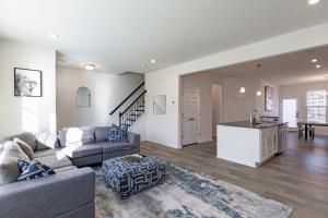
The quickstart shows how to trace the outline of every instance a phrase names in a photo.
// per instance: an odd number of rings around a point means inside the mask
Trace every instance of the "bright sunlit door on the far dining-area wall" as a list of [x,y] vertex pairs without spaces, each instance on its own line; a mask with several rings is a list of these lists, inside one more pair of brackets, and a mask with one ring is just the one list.
[[298,109],[296,98],[282,99],[282,121],[288,122],[290,129],[297,128]]

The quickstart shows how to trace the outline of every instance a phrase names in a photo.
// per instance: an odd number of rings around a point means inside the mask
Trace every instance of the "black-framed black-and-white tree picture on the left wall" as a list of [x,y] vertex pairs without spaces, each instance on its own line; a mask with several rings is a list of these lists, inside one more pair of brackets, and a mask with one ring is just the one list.
[[23,68],[14,68],[14,96],[42,97],[43,72]]

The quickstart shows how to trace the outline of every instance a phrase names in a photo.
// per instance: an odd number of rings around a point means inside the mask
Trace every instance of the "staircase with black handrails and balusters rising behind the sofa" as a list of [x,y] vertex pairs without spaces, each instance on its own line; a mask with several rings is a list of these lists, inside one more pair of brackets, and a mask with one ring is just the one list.
[[[127,100],[129,100],[134,93],[137,93],[144,83],[139,85],[127,98],[125,98],[109,114],[114,114]],[[147,90],[143,90],[122,112],[119,111],[119,126],[130,130],[133,124],[140,119],[145,111],[145,97]]]

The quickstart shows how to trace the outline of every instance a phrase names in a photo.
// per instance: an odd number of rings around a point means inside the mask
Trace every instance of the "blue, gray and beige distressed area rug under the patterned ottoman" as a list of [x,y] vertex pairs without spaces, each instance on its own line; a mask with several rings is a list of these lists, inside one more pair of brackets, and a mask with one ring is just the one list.
[[164,184],[120,201],[96,172],[96,218],[288,218],[292,208],[166,162]]

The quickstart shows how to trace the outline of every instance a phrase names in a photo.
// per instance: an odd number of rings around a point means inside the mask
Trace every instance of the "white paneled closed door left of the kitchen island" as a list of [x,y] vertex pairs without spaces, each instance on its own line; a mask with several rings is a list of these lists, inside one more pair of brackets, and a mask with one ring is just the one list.
[[181,144],[200,141],[200,89],[183,89]]

